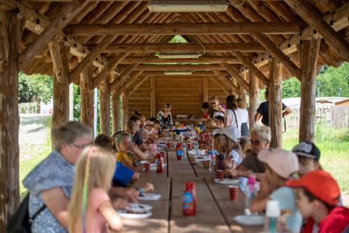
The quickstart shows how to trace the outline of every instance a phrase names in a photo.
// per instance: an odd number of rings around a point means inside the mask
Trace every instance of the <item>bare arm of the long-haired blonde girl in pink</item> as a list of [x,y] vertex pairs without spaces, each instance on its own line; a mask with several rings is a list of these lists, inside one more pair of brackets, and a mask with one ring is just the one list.
[[104,202],[99,206],[98,211],[102,214],[103,218],[110,227],[110,230],[121,231],[122,230],[122,220],[115,211],[111,202]]

